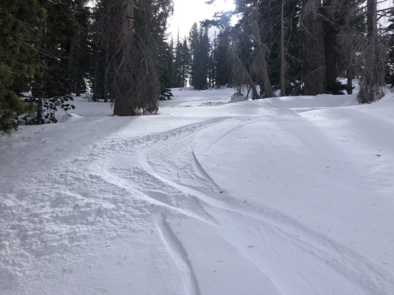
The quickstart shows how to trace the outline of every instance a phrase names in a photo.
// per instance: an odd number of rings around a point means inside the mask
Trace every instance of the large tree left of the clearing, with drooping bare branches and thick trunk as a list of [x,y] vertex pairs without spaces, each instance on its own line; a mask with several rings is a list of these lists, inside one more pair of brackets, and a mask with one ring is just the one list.
[[97,7],[93,25],[95,99],[105,100],[108,89],[115,115],[157,112],[161,89],[172,80],[172,74],[167,73],[171,70],[166,69],[164,75],[160,65],[165,60],[168,67],[172,66],[172,53],[164,45],[172,1],[100,0]]

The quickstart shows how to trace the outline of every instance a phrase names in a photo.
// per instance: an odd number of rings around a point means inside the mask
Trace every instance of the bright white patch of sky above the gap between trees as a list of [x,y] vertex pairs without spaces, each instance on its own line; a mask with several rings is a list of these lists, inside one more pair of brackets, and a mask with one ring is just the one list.
[[207,0],[173,0],[174,15],[169,19],[168,31],[174,38],[178,34],[183,38],[189,35],[189,30],[193,24],[197,24],[207,18],[210,18],[217,11],[227,11],[234,8],[233,0],[216,0],[214,4],[205,4]]

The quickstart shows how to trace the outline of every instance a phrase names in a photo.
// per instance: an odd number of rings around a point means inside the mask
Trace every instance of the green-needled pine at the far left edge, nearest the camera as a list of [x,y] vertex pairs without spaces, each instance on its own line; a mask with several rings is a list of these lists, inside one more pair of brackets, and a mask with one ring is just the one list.
[[17,128],[16,117],[33,110],[24,103],[41,60],[37,41],[46,11],[37,0],[5,1],[0,9],[0,131]]

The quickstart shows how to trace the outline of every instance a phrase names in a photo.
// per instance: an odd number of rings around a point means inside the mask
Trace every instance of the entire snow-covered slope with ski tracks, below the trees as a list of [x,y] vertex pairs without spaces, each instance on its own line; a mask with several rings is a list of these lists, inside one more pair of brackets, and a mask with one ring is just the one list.
[[392,93],[173,92],[0,137],[1,295],[394,294]]

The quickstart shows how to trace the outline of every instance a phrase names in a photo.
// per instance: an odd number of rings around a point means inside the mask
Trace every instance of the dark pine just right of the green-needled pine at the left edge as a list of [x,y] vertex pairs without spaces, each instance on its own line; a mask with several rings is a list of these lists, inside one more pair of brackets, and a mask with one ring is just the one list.
[[[39,47],[42,63],[35,73],[32,98],[37,104],[34,116],[24,117],[25,123],[56,122],[56,111],[73,108],[71,92],[86,89],[86,58],[90,46],[88,0],[41,0],[47,11]],[[79,94],[78,93],[78,94]]]

